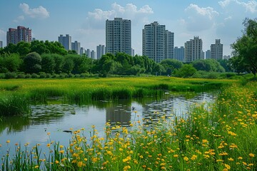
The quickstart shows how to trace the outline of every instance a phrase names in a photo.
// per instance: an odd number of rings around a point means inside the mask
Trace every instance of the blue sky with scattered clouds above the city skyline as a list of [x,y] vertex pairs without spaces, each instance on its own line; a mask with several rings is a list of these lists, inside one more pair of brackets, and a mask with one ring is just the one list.
[[203,40],[203,51],[223,43],[223,55],[230,55],[230,45],[242,35],[243,19],[257,16],[253,0],[1,0],[0,41],[6,45],[8,28],[26,26],[38,40],[57,41],[69,34],[72,41],[96,50],[105,44],[105,21],[114,17],[130,19],[132,48],[141,55],[142,29],[158,21],[175,33],[175,46],[183,46],[193,36]]

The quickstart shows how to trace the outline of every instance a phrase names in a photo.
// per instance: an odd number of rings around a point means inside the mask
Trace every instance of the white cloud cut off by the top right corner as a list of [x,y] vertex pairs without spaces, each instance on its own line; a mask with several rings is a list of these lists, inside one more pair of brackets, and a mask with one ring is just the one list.
[[239,1],[239,0],[218,1],[218,4],[223,8],[229,6],[232,3],[243,6],[243,8],[246,9],[246,12],[248,12],[248,11],[250,11],[251,13],[257,12],[257,2],[256,1],[252,1],[252,0],[248,1],[248,2],[243,2],[243,1]]

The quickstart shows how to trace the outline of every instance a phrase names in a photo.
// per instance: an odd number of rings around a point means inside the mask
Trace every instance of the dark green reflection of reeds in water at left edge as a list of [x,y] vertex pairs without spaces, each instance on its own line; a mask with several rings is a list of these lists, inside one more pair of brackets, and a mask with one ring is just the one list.
[[2,118],[0,133],[7,129],[7,133],[26,130],[29,128],[29,118],[22,116],[11,116]]

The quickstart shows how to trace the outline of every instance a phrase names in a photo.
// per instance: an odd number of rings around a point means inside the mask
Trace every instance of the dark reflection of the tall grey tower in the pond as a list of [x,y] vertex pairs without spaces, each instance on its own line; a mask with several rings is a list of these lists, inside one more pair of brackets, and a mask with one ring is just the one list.
[[130,100],[122,100],[122,102],[119,102],[122,105],[113,105],[106,108],[106,122],[111,123],[111,125],[129,125],[131,122],[131,102]]

